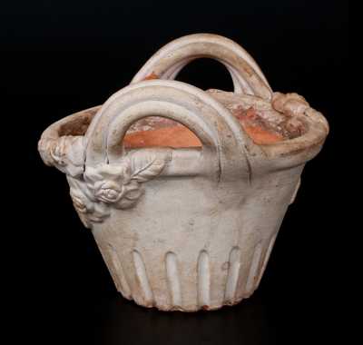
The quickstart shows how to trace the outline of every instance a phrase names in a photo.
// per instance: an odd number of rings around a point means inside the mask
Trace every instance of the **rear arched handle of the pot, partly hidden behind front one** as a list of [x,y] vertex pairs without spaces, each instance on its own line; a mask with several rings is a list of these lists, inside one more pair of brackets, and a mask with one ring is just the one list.
[[272,91],[259,65],[239,44],[218,34],[191,34],[164,45],[142,66],[132,84],[145,79],[174,79],[186,64],[201,57],[210,57],[226,66],[236,94],[256,95],[270,101]]

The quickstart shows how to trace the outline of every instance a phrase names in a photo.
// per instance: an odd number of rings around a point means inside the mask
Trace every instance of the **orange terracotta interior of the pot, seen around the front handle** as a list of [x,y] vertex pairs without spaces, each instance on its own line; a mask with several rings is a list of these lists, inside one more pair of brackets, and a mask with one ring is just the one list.
[[[306,133],[306,128],[296,117],[287,116],[272,109],[268,102],[261,99],[254,103],[255,97],[208,90],[207,93],[223,104],[240,122],[244,132],[256,144],[279,143]],[[252,102],[250,102],[250,100]],[[100,107],[80,113],[79,116],[62,124],[59,135],[83,135],[86,133],[93,116]],[[200,140],[181,123],[149,116],[133,123],[123,138],[126,148],[167,146],[173,148],[199,147]]]

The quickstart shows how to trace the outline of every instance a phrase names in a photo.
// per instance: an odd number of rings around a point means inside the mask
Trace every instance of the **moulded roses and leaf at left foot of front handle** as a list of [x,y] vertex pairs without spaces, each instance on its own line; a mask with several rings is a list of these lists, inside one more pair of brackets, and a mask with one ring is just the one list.
[[86,165],[83,172],[83,164],[78,164],[81,157],[73,154],[68,143],[70,138],[49,147],[52,164],[67,174],[74,208],[87,228],[92,228],[94,222],[103,222],[110,215],[110,206],[131,208],[142,196],[142,182],[159,175],[171,159],[167,151],[132,153],[117,163]]

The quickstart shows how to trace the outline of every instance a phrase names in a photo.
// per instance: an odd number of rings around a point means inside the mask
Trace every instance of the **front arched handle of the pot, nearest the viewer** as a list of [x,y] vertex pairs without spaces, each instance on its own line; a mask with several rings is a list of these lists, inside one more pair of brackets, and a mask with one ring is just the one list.
[[219,180],[250,176],[248,153],[259,148],[231,113],[201,89],[154,80],[126,86],[103,105],[86,133],[86,164],[116,163],[125,155],[123,137],[132,123],[162,116],[188,127],[202,143],[202,163]]

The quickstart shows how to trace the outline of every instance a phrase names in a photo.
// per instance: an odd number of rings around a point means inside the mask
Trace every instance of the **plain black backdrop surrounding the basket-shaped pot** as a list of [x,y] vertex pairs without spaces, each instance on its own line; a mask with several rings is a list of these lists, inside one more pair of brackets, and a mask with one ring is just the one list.
[[[38,344],[270,345],[325,343],[335,335],[334,320],[343,317],[337,312],[344,267],[336,201],[345,188],[337,183],[337,160],[349,96],[348,1],[18,1],[2,7],[3,155],[10,153],[11,162],[3,169],[10,191],[3,216],[14,236],[3,247],[11,252],[12,278],[5,284],[16,296],[9,297],[7,314],[15,325],[11,343],[25,337]],[[36,143],[54,121],[103,104],[163,44],[200,32],[241,44],[273,90],[304,95],[326,115],[331,132],[307,164],[260,289],[233,308],[164,313],[115,291],[91,232],[73,210],[64,175],[44,166]],[[210,60],[193,62],[178,79],[231,89],[227,71]]]

